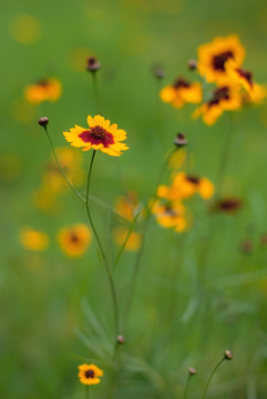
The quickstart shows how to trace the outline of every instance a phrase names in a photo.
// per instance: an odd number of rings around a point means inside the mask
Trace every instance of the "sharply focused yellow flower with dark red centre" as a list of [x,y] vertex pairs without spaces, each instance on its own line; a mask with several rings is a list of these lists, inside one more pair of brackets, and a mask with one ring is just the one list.
[[117,129],[116,124],[112,124],[103,116],[88,116],[89,129],[75,125],[70,132],[63,132],[65,140],[75,147],[82,147],[82,151],[91,149],[100,150],[112,156],[120,156],[122,151],[129,150],[125,143],[121,143],[126,139],[126,132]]

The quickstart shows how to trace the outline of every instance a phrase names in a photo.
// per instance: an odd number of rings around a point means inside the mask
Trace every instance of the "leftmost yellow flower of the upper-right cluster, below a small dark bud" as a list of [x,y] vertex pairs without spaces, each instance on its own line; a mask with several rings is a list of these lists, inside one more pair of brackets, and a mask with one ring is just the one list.
[[198,104],[202,101],[202,85],[178,78],[173,85],[163,88],[160,96],[163,102],[171,103],[175,108],[182,108],[186,102]]

